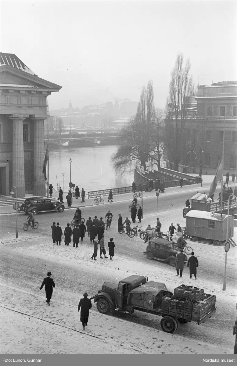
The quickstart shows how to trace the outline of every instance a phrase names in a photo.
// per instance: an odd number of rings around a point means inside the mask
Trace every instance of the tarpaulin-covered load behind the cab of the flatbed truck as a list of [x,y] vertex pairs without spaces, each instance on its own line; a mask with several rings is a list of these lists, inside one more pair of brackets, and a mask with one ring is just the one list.
[[127,304],[153,310],[161,305],[161,299],[165,295],[173,294],[164,283],[149,281],[129,292]]

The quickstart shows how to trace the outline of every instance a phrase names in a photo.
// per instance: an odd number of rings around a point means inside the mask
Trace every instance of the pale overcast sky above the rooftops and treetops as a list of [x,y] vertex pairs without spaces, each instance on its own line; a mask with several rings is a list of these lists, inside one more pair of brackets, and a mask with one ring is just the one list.
[[237,80],[237,1],[1,1],[1,52],[61,85],[50,109],[138,101],[165,106],[178,51],[198,84]]

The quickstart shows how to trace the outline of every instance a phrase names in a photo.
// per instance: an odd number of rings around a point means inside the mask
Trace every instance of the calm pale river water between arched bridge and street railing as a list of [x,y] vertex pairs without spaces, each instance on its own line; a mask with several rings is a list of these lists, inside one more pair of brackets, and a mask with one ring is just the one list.
[[[57,182],[64,192],[69,189],[70,163],[71,181],[80,189],[94,191],[108,188],[131,186],[134,180],[134,171],[127,172],[123,177],[116,176],[110,164],[110,157],[117,146],[94,147],[63,147],[60,150],[49,151],[49,183],[57,190]],[[64,179],[63,175],[64,173]],[[56,180],[57,176],[57,180]]]

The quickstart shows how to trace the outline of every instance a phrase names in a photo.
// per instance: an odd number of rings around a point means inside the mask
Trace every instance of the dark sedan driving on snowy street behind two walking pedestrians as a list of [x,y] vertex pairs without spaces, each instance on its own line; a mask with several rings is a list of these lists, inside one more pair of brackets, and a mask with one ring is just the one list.
[[[172,242],[165,239],[151,239],[147,245],[147,249],[143,252],[148,259],[157,259],[158,261],[168,262],[171,266],[175,266],[174,262],[178,250],[173,249]],[[188,258],[186,257],[185,263]]]

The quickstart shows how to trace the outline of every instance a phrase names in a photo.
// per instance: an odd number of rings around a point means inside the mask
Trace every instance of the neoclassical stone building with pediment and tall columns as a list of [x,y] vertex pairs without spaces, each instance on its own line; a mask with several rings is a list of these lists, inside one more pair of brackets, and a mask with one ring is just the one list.
[[0,194],[45,195],[47,96],[61,86],[41,79],[13,53],[0,53]]

